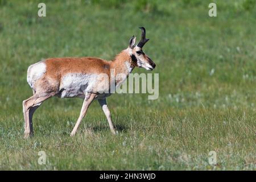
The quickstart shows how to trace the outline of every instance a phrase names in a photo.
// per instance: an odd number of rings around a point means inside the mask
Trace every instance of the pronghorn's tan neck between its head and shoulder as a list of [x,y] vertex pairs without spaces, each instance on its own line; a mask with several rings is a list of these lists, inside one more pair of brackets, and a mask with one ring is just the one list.
[[114,60],[110,68],[114,69],[115,76],[117,74],[125,74],[126,76],[133,71],[135,67],[134,61],[131,59],[129,48],[121,51]]

